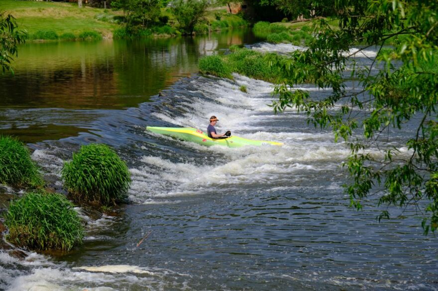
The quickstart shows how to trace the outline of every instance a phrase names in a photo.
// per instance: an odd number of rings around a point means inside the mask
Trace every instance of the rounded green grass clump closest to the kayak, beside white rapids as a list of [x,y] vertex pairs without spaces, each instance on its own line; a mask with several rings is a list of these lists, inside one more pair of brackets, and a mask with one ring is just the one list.
[[109,146],[98,144],[82,146],[61,174],[74,199],[104,205],[123,200],[131,182],[126,163]]

